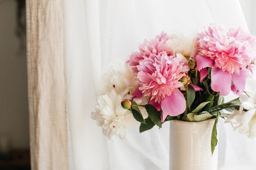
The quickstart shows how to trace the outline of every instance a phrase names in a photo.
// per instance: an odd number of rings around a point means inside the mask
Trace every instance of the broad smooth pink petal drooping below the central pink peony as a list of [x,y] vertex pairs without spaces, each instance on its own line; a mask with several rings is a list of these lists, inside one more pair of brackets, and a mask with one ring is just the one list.
[[182,114],[186,109],[186,100],[180,92],[179,89],[175,89],[171,96],[166,96],[161,100],[161,108],[162,108],[162,122],[170,116],[177,116]]

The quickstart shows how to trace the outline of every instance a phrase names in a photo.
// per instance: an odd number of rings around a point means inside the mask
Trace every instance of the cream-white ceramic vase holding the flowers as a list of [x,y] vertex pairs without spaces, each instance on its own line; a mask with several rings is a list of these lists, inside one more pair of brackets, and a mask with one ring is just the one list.
[[214,121],[170,121],[170,170],[217,170],[218,145],[211,155]]

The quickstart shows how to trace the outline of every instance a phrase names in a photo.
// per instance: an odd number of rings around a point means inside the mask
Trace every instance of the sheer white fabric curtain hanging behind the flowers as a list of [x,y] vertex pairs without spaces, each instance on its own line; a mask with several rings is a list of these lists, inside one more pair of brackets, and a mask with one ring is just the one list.
[[[211,22],[247,29],[238,0],[65,0],[70,170],[168,170],[168,123],[141,134],[134,127],[127,140],[109,141],[90,118],[100,72],[144,38]],[[219,127],[219,170],[255,170],[256,141],[230,124]]]

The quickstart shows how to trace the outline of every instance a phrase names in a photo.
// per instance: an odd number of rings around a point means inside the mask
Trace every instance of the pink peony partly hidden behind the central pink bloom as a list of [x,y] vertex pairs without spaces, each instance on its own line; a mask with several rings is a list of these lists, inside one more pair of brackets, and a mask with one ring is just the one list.
[[167,33],[162,32],[157,35],[155,39],[148,41],[145,39],[144,43],[139,45],[139,52],[132,52],[127,63],[132,67],[132,70],[137,73],[137,65],[139,62],[151,55],[158,55],[166,52],[168,56],[172,54],[172,49],[166,44],[169,39]]

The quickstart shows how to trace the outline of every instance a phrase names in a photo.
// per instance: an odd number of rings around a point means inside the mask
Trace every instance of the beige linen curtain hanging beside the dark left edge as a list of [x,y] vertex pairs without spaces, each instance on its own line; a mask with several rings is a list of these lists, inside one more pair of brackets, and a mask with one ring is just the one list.
[[32,170],[67,170],[63,0],[27,0]]

